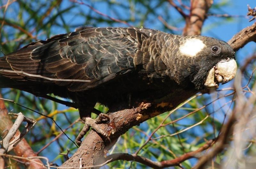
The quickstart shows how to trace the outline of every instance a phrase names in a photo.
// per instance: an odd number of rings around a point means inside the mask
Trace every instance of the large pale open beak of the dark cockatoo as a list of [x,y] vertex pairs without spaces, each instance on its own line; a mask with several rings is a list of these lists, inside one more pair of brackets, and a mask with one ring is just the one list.
[[205,88],[218,88],[219,83],[225,84],[231,81],[235,77],[236,71],[237,64],[235,59],[221,60],[209,71],[204,83]]

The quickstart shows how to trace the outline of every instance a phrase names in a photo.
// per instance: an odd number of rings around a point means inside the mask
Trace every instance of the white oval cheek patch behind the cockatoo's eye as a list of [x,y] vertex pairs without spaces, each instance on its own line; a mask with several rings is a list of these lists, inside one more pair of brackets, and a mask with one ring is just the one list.
[[180,46],[179,50],[181,54],[186,56],[194,57],[196,54],[205,47],[202,40],[199,39],[188,39],[186,42]]

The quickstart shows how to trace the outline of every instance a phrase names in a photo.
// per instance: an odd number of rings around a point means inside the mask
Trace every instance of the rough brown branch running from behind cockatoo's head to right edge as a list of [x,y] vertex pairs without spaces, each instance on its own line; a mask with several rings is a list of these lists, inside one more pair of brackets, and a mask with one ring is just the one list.
[[252,41],[256,42],[256,23],[238,32],[228,41],[228,44],[234,51],[238,51],[240,48],[244,47],[244,45]]

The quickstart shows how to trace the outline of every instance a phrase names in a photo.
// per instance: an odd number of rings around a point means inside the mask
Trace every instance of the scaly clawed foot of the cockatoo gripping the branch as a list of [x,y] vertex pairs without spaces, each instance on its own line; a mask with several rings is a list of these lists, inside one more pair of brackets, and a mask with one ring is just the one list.
[[[76,143],[78,145],[81,145],[82,141],[81,139],[84,137],[84,135],[89,131],[90,127],[92,128],[92,130],[96,131],[98,134],[100,134],[101,136],[103,136],[105,139],[107,139],[109,142],[109,135],[110,133],[115,132],[115,125],[113,125],[113,122],[109,122],[108,123],[108,128],[107,128],[107,132],[105,132],[104,130],[102,130],[100,128],[99,125],[102,123],[103,121],[107,120],[110,121],[110,118],[108,115],[104,114],[104,113],[100,113],[99,116],[94,120],[91,117],[81,117],[82,122],[84,123],[84,127],[81,130],[81,132],[78,134],[78,136],[76,137]],[[114,126],[114,127],[113,127]],[[109,132],[110,131],[110,132]]]

